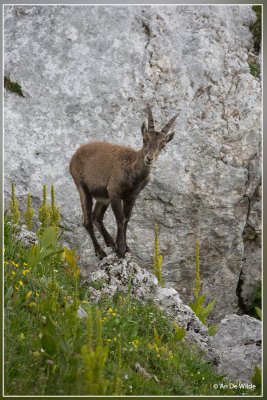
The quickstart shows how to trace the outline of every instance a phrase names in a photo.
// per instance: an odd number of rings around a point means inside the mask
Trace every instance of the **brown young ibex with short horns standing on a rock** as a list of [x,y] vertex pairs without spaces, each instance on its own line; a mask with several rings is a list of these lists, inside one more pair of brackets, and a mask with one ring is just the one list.
[[[159,153],[174,137],[169,130],[177,118],[176,114],[162,129],[155,131],[150,106],[148,127],[143,122],[141,131],[143,147],[136,151],[131,147],[106,142],[82,145],[70,162],[70,173],[79,191],[84,227],[91,236],[96,256],[101,260],[106,253],[100,247],[94,233],[95,225],[108,247],[112,247],[118,257],[130,251],[126,243],[126,230],[132,208],[142,189],[149,181],[149,174]],[[93,198],[96,204],[93,207]],[[104,214],[111,204],[117,222],[116,241],[107,232]]]

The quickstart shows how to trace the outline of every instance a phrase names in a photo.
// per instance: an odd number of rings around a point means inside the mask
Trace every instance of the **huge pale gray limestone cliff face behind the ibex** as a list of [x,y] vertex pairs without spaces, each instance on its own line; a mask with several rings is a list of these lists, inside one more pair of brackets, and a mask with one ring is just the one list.
[[[133,210],[132,255],[152,268],[156,222],[163,280],[188,303],[198,240],[202,289],[208,301],[217,297],[213,319],[238,312],[237,287],[249,306],[261,274],[261,82],[247,62],[251,6],[4,10],[5,76],[24,95],[5,91],[6,204],[11,183],[24,209],[27,192],[39,208],[43,184],[54,184],[66,244],[95,270],[71,156],[96,140],[140,148],[147,102],[156,128],[180,110]],[[115,234],[110,210],[105,221]]]

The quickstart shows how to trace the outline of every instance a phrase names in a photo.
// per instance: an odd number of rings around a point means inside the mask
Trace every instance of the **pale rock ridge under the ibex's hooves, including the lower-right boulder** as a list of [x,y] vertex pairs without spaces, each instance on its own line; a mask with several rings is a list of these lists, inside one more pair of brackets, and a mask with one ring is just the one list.
[[112,296],[117,290],[143,302],[153,300],[180,327],[184,326],[186,340],[205,352],[206,361],[212,362],[229,380],[250,383],[254,366],[261,368],[261,321],[248,315],[227,315],[215,335],[209,336],[207,327],[184,304],[179,293],[171,287],[162,288],[157,278],[132,261],[130,255],[122,260],[111,254],[99,263],[97,271],[83,270],[82,279],[95,301],[103,295]]

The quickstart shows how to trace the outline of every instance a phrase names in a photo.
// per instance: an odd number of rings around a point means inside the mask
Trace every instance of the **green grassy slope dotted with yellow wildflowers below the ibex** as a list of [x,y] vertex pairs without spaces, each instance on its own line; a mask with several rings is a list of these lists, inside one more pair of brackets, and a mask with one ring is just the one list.
[[[215,389],[223,377],[186,336],[176,340],[173,322],[152,302],[119,292],[91,302],[55,228],[28,249],[17,229],[5,217],[5,395],[259,394]],[[80,306],[92,324],[77,316]]]

